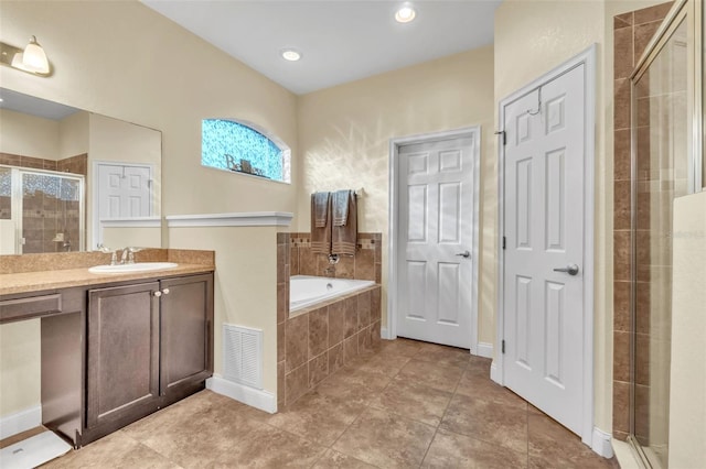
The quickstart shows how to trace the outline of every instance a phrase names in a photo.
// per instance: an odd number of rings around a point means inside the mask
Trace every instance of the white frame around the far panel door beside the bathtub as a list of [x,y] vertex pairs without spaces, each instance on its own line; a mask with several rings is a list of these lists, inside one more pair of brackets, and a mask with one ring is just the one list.
[[397,236],[399,232],[397,192],[399,190],[399,148],[416,143],[427,143],[440,140],[459,138],[471,138],[474,142],[473,154],[473,246],[471,247],[471,353],[478,355],[478,266],[479,266],[479,222],[480,222],[480,153],[481,153],[481,126],[471,126],[461,129],[447,130],[442,132],[422,133],[394,138],[389,140],[389,210],[388,210],[388,240],[387,240],[387,328],[382,330],[385,339],[397,338]]

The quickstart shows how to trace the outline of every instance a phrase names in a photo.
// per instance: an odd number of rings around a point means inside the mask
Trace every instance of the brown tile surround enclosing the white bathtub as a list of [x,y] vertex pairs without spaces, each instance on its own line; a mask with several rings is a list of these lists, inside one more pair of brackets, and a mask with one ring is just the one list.
[[378,284],[289,317],[289,276],[325,276],[325,255],[311,254],[310,234],[277,234],[277,406],[285,408],[327,375],[379,345],[382,233],[359,233],[355,257],[335,264],[338,279]]

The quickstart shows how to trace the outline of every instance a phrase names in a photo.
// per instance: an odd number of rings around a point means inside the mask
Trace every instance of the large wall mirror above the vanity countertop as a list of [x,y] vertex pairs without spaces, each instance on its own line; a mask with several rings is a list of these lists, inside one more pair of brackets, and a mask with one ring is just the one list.
[[0,98],[0,254],[161,246],[160,131]]

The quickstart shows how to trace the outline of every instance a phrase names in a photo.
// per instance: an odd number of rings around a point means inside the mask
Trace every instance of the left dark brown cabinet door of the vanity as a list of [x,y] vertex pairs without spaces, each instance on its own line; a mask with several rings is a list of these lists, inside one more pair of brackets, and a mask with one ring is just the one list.
[[157,406],[158,290],[150,282],[88,292],[88,428]]

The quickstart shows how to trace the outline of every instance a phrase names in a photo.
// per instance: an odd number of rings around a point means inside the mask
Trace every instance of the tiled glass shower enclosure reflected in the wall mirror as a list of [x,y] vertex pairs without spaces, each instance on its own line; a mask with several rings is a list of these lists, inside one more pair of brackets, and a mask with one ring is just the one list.
[[81,251],[84,176],[0,166],[0,254]]

